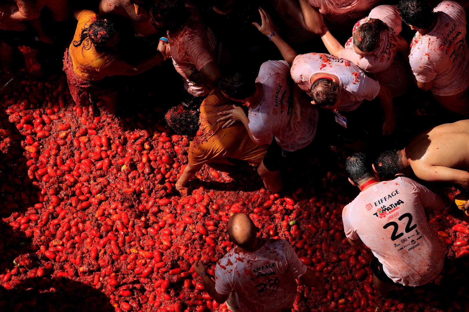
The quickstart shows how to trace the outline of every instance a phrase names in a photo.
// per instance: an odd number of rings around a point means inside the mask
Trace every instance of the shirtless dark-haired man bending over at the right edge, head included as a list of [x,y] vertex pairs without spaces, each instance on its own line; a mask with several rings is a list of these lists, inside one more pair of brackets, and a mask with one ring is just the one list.
[[469,120],[445,123],[416,136],[403,150],[381,154],[375,162],[383,180],[410,175],[469,189]]

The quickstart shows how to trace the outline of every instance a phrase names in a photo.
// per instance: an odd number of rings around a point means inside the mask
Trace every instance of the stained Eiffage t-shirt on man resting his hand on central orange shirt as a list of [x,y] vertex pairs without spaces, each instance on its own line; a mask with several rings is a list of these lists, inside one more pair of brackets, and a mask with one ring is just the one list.
[[318,124],[318,109],[302,103],[299,131],[290,127],[292,98],[290,66],[286,61],[267,61],[261,65],[256,82],[264,87],[264,98],[256,109],[249,108],[249,130],[258,144],[271,144],[272,138],[285,151],[293,152],[311,143]]

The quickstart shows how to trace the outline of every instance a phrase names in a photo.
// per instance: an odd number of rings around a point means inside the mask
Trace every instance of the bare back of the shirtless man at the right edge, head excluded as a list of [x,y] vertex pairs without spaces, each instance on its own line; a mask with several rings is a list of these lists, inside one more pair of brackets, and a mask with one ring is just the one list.
[[406,155],[415,175],[425,181],[458,183],[469,175],[469,120],[445,123],[414,138]]

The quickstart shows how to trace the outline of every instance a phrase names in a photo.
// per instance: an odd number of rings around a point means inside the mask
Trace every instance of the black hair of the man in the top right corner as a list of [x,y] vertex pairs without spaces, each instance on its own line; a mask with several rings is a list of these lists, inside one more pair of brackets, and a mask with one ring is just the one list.
[[401,0],[397,4],[402,21],[418,29],[427,29],[435,15],[427,0]]

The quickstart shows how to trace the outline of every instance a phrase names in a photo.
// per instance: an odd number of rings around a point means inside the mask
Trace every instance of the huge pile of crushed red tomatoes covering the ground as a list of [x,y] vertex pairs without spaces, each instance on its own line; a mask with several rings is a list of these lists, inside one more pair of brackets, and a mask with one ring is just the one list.
[[163,109],[118,118],[76,107],[63,75],[19,81],[0,108],[2,311],[227,311],[192,264],[214,274],[233,248],[227,220],[240,211],[262,237],[287,239],[326,283],[323,297],[298,286],[295,311],[469,309],[469,228],[451,206],[455,189],[440,188],[446,208],[428,215],[446,246],[443,271],[385,299],[372,285],[370,249],[350,247],[343,233],[341,211],[358,191],[343,153],[314,158],[285,197],[265,191],[252,169],[207,166],[180,196],[189,140],[166,127]]

